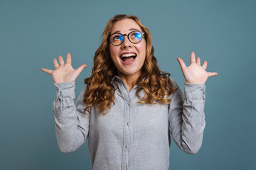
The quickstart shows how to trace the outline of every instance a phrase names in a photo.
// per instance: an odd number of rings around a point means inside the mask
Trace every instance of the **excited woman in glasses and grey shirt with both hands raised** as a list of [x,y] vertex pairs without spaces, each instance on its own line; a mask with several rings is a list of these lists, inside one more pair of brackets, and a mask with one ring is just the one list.
[[186,67],[185,98],[170,74],[161,72],[151,34],[136,16],[108,21],[95,52],[92,75],[75,101],[75,79],[82,69],[58,56],[55,70],[41,69],[57,87],[53,101],[55,131],[61,152],[73,152],[88,138],[92,169],[169,169],[171,136],[184,152],[196,154],[205,128],[206,72],[191,52]]

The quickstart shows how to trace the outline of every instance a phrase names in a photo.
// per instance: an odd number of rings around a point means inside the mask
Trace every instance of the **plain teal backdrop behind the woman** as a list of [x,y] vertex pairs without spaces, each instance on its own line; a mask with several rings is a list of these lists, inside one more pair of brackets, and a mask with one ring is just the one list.
[[138,16],[151,30],[160,69],[183,90],[177,57],[208,61],[206,129],[198,154],[171,141],[175,170],[256,169],[256,1],[7,1],[0,0],[0,169],[91,169],[87,141],[58,149],[52,103],[55,86],[41,68],[71,53],[78,97],[92,70],[107,21]]

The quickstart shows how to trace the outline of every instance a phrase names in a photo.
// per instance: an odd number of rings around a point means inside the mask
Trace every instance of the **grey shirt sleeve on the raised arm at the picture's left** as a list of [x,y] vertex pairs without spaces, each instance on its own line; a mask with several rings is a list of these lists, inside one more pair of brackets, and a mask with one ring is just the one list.
[[75,82],[54,85],[57,88],[53,113],[58,147],[61,152],[73,152],[85,142],[89,132],[89,113],[86,112],[86,116],[83,113],[83,94],[86,86],[74,103]]

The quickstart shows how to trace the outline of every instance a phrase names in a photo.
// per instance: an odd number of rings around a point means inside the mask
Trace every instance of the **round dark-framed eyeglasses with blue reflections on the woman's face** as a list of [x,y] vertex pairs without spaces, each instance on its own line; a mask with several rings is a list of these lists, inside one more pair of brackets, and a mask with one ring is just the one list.
[[108,37],[112,45],[121,45],[122,42],[124,42],[124,35],[127,35],[128,40],[134,44],[137,44],[142,41],[142,35],[144,33],[141,33],[139,31],[132,31],[129,34],[122,34],[122,33],[113,33]]

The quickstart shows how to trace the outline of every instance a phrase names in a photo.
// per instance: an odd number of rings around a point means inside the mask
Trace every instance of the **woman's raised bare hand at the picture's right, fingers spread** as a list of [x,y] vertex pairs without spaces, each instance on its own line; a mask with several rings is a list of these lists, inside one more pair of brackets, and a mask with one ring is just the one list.
[[217,72],[206,72],[207,62],[204,61],[201,66],[200,58],[195,57],[195,52],[191,52],[191,64],[188,67],[186,67],[186,64],[181,58],[177,58],[177,60],[188,84],[205,84],[208,77],[218,75]]

